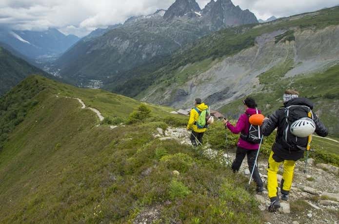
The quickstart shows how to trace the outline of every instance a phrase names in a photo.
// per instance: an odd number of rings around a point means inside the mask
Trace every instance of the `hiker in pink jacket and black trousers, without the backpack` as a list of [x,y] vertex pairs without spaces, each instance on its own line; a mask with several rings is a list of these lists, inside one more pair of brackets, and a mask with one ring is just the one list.
[[260,111],[257,109],[256,101],[253,98],[247,97],[242,102],[245,107],[245,112],[239,116],[236,127],[234,127],[227,119],[223,120],[225,128],[228,128],[231,132],[235,134],[241,132],[238,140],[236,158],[233,161],[231,168],[233,172],[239,171],[241,163],[245,158],[245,155],[247,155],[248,169],[250,170],[250,172],[252,172],[253,167],[255,167],[253,172],[253,179],[257,183],[257,192],[261,193],[262,191],[264,191],[264,188],[261,177],[259,175],[258,167],[255,166],[259,144],[254,144],[246,141],[250,128],[249,116],[252,114],[256,114],[257,112],[260,113]]

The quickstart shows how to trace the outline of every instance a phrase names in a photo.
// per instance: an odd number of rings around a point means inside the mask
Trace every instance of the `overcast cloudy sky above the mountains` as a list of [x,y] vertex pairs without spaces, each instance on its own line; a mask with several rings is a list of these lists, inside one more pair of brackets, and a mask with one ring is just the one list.
[[[167,9],[175,0],[0,0],[0,26],[20,30],[58,28],[80,37],[131,16]],[[210,0],[197,0],[203,8]],[[285,17],[339,4],[339,0],[233,0],[258,19]]]

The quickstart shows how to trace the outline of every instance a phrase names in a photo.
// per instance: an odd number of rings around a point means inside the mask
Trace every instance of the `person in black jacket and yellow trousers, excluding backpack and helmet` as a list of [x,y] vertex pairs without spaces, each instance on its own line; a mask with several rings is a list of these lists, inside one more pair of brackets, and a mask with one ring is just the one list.
[[[286,131],[287,127],[285,108],[299,105],[306,106],[312,110],[314,106],[310,100],[299,97],[299,93],[293,90],[285,91],[283,99],[284,107],[274,112],[269,116],[269,118],[265,118],[262,125],[262,132],[264,136],[270,135],[276,128],[278,128],[276,141],[272,146],[272,152],[268,159],[267,189],[268,196],[271,200],[271,204],[268,207],[269,211],[276,211],[280,207],[277,182],[279,166],[283,163],[283,175],[280,184],[281,200],[287,201],[289,191],[292,186],[295,162],[304,156],[304,150],[291,146],[284,138],[284,136],[286,136],[284,135],[284,131]],[[326,127],[315,114],[313,114],[313,121],[316,124],[315,132],[321,137],[327,136],[328,131]],[[306,146],[303,147],[306,148]]]

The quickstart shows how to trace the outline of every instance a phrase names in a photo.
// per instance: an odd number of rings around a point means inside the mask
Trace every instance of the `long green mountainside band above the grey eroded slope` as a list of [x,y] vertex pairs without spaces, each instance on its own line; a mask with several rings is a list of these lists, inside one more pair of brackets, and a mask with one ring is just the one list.
[[[199,70],[200,64],[207,61],[215,61],[225,56],[232,56],[241,50],[255,45],[256,37],[278,31],[281,29],[322,29],[331,25],[339,24],[339,7],[323,9],[315,13],[305,13],[289,18],[277,19],[274,22],[264,24],[250,24],[239,27],[220,30],[211,35],[198,39],[193,44],[185,46],[175,54],[158,61],[151,61],[139,68],[128,71],[130,79],[114,87],[116,84],[107,85],[105,88],[128,96],[141,98],[144,90],[154,88],[161,84],[166,87],[170,83],[188,80]],[[293,32],[287,32],[276,41],[292,40]],[[181,69],[189,66],[190,71],[183,76]],[[207,68],[205,68],[207,69]],[[114,80],[116,82],[116,80]],[[133,88],[132,88],[133,87]],[[133,91],[130,91],[133,89]]]

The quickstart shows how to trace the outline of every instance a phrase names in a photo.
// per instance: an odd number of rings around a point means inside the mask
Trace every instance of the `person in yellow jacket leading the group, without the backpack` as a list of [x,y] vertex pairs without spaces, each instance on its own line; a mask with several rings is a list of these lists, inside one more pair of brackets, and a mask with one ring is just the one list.
[[[190,113],[190,119],[188,120],[187,130],[192,129],[190,140],[193,146],[198,146],[198,144],[202,144],[202,136],[206,131],[206,128],[198,128],[197,121],[199,118],[200,112],[207,110],[208,106],[204,103],[201,103],[200,98],[196,98],[195,107],[192,108]],[[199,112],[198,112],[199,111]],[[197,140],[199,142],[197,142]]]

